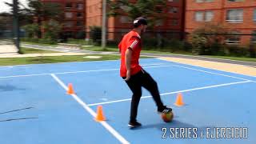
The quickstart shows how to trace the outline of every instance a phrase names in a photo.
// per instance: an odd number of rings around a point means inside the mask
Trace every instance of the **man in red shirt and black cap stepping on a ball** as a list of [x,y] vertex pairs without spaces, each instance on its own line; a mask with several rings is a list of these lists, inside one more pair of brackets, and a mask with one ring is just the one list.
[[142,87],[150,91],[154,98],[154,102],[158,106],[159,113],[169,113],[172,111],[163,105],[158,91],[158,84],[154,79],[142,69],[138,59],[142,50],[142,40],[140,34],[146,32],[147,22],[145,18],[136,18],[134,20],[134,29],[127,33],[118,48],[121,53],[120,76],[125,80],[126,84],[133,92],[130,105],[130,122],[128,126],[142,126],[137,122],[138,103],[142,97]]

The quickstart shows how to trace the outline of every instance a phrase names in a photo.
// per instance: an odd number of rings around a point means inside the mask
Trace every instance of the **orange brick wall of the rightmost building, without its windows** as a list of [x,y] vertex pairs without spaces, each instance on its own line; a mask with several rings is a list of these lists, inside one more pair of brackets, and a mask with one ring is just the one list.
[[[195,2],[195,0],[186,0],[186,21],[185,31],[192,32],[194,29],[202,26],[204,22],[195,22],[195,11],[214,11],[214,19],[212,22],[222,23],[230,30],[238,30],[241,34],[251,34],[252,30],[256,30],[256,22],[253,21],[254,9],[256,1],[244,0],[244,2],[227,2],[227,0],[214,0],[214,2]],[[242,23],[231,23],[226,21],[226,11],[229,9],[242,9]],[[241,44],[247,45],[250,42],[250,36],[242,36]]]

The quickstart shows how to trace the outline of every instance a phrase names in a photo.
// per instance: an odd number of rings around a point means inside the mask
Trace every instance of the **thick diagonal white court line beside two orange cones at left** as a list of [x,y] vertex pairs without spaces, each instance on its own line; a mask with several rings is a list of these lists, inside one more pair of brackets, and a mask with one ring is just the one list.
[[[55,75],[55,74],[50,74],[54,80],[56,82],[58,82],[58,84],[60,86],[62,86],[65,90],[68,90],[67,86]],[[96,117],[96,113],[94,112],[94,110],[92,110],[89,106],[86,105],[86,102],[83,102],[81,100],[81,98],[78,97],[78,95],[76,94],[71,94],[72,97],[85,109],[87,110],[94,118]],[[106,128],[106,130],[109,130],[111,134],[114,135],[115,138],[117,138],[119,140],[119,142],[122,143],[130,143],[128,142],[125,138],[122,137],[121,134],[119,134],[116,130],[114,130],[114,128],[112,126],[110,126],[107,122],[103,121],[100,122],[102,124],[102,126],[104,126]]]

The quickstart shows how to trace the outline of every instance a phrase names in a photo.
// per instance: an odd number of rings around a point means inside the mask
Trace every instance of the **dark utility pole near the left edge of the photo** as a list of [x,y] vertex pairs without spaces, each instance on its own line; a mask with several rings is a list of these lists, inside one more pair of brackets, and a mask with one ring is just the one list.
[[18,52],[20,51],[20,46],[19,46],[19,25],[18,25],[18,0],[13,0],[14,7],[13,7],[13,14],[14,14],[14,44],[18,49]]

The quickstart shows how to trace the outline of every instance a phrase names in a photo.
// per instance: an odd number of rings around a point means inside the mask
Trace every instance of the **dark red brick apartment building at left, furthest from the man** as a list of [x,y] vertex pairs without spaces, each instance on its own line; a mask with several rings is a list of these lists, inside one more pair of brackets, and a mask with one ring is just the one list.
[[42,0],[42,2],[56,2],[61,6],[64,37],[76,38],[85,30],[84,0]]

